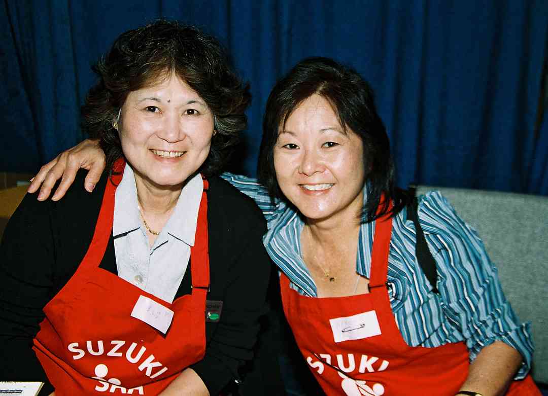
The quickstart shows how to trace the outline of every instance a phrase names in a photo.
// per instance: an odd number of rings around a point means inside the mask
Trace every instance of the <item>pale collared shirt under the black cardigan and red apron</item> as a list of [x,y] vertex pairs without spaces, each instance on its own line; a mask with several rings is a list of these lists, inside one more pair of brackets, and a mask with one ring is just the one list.
[[194,245],[202,192],[202,177],[197,174],[182,188],[169,220],[150,248],[139,214],[133,169],[125,165],[116,188],[112,225],[119,277],[173,302]]

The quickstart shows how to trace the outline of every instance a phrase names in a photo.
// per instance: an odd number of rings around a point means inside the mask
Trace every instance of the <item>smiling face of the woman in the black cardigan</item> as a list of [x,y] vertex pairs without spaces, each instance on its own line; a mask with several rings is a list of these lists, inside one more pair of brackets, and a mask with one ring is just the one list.
[[214,119],[206,102],[175,73],[131,91],[116,129],[138,191],[181,187],[204,163]]

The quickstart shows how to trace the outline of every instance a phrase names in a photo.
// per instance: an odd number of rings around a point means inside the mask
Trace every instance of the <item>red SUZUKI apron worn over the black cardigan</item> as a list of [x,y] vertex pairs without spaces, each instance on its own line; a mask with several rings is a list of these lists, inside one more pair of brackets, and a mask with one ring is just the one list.
[[[168,303],[99,268],[112,234],[115,191],[122,175],[112,179],[88,252],[44,307],[45,318],[34,340],[33,349],[57,396],[156,395],[206,351],[207,181],[190,255],[192,294]],[[174,311],[167,335],[130,316],[139,296]]]

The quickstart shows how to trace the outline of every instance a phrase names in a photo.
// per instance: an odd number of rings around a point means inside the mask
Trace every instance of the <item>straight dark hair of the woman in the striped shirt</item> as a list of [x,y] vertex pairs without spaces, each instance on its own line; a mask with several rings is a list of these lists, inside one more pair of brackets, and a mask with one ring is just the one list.
[[[373,91],[358,72],[329,58],[300,61],[272,89],[262,124],[257,169],[259,182],[269,190],[271,197],[284,198],[274,169],[274,147],[279,130],[289,116],[314,94],[323,96],[331,104],[345,132],[350,128],[363,141],[363,166],[368,189],[362,221],[373,221],[387,213],[397,214],[411,197],[395,187],[390,141],[376,112]],[[383,196],[387,199],[377,213]],[[391,210],[388,206],[390,200],[393,203]]]

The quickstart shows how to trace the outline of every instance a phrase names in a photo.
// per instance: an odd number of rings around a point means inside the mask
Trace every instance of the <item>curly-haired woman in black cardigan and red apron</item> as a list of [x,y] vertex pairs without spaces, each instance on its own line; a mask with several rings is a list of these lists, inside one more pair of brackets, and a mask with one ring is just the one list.
[[252,357],[271,267],[261,212],[216,176],[248,84],[215,38],[163,20],[123,33],[95,71],[82,118],[108,171],[92,194],[24,199],[10,221],[1,379],[218,394]]

